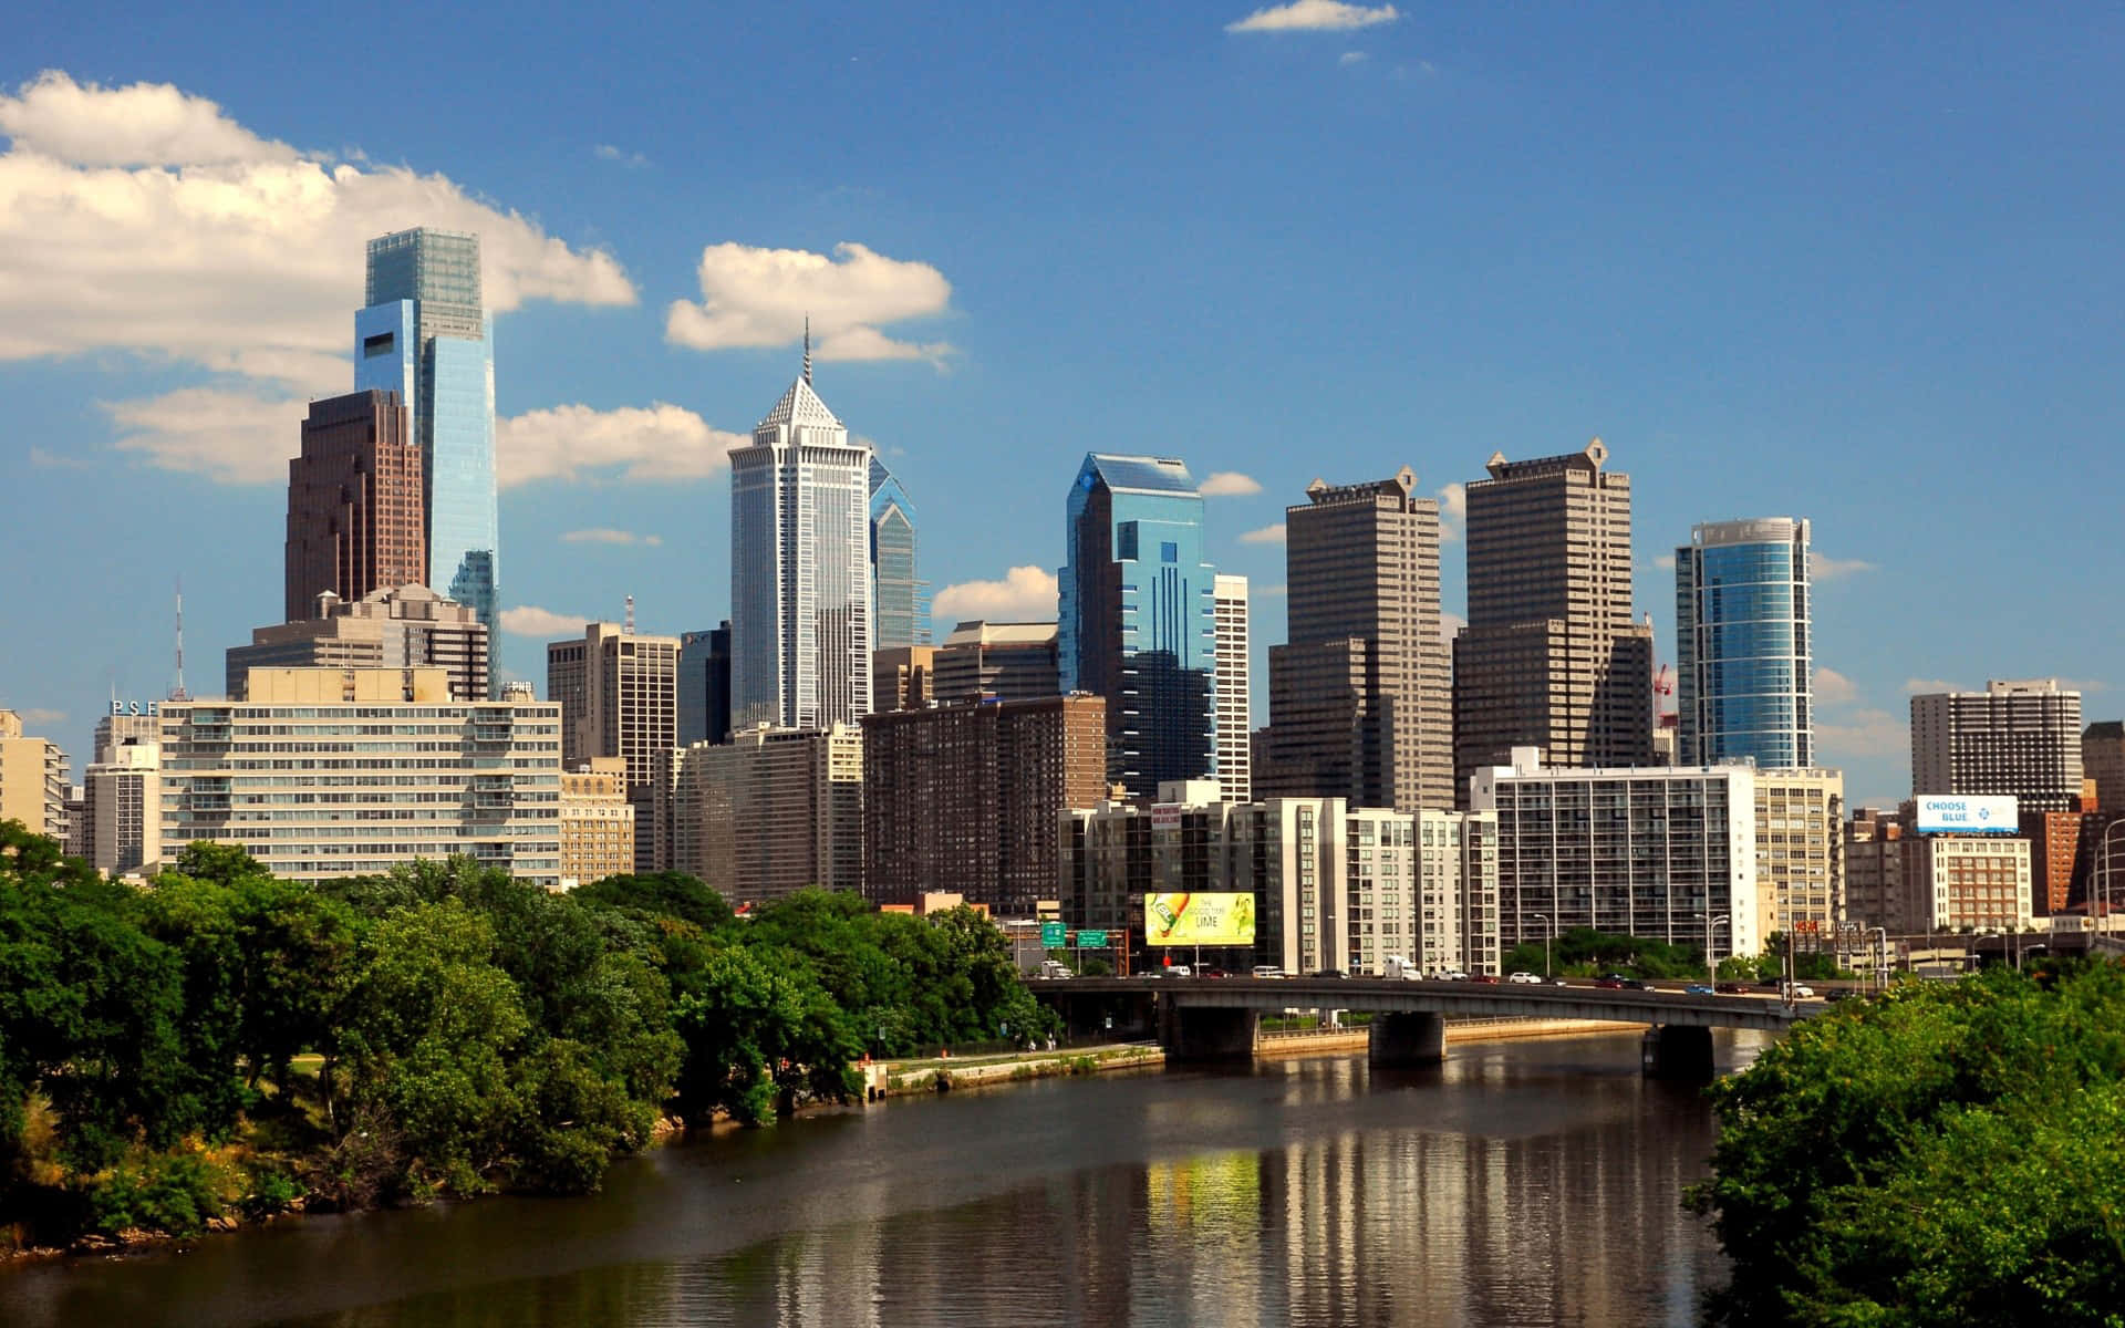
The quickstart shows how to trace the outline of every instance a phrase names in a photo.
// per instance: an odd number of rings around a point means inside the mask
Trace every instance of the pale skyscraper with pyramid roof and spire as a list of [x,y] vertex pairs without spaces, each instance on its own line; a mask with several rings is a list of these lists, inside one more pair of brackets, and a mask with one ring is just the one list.
[[803,374],[731,450],[731,727],[871,710],[871,446]]

